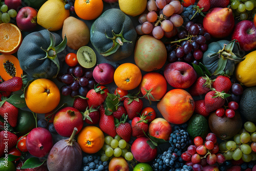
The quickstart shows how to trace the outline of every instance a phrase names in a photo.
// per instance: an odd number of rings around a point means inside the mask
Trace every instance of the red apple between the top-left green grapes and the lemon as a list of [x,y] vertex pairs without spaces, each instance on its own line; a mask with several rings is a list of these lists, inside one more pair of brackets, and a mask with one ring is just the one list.
[[16,16],[17,26],[22,31],[33,31],[36,26],[37,11],[31,7],[23,7]]

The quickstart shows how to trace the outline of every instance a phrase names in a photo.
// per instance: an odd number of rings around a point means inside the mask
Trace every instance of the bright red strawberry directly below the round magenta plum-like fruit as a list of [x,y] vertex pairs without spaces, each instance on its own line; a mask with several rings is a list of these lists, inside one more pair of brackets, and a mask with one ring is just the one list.
[[89,90],[86,97],[89,107],[97,108],[100,104],[104,102],[108,96],[109,90],[104,86],[95,86],[94,89]]

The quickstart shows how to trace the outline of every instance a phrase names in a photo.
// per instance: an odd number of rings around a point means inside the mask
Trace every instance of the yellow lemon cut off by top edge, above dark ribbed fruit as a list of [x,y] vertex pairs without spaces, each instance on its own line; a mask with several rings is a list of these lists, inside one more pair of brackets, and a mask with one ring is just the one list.
[[136,16],[146,9],[146,0],[119,0],[120,10],[127,15]]

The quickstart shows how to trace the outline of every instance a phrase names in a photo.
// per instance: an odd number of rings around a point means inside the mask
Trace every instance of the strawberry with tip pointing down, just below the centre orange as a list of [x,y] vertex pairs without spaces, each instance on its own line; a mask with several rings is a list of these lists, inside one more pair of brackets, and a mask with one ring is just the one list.
[[123,106],[127,112],[129,119],[132,120],[142,110],[143,102],[139,97],[131,96],[124,99]]

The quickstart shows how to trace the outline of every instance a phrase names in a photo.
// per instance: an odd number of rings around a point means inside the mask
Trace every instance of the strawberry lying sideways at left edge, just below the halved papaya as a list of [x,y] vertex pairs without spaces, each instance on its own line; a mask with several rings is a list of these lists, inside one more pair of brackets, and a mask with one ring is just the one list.
[[16,92],[22,89],[23,82],[20,77],[12,77],[7,81],[0,84],[0,91],[4,92]]

